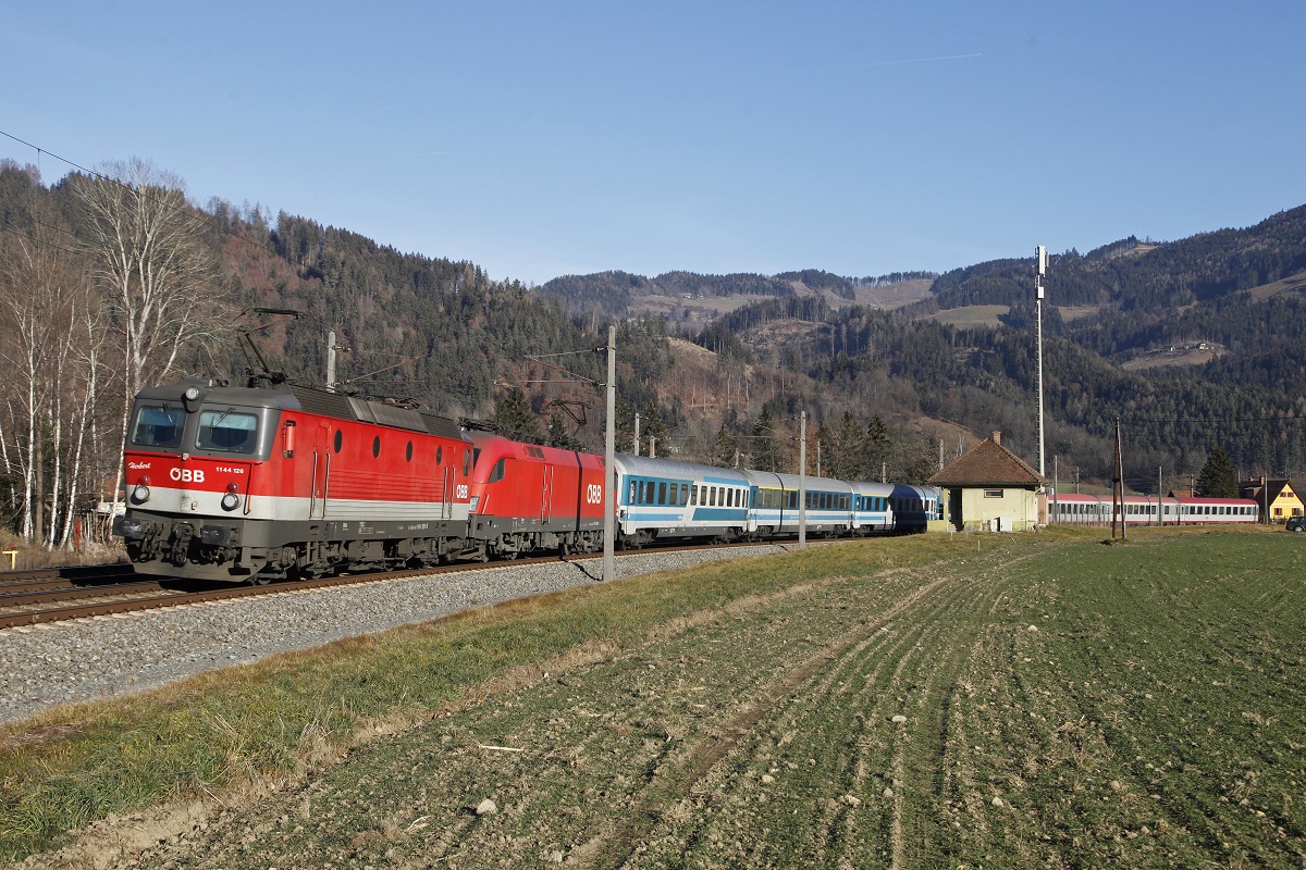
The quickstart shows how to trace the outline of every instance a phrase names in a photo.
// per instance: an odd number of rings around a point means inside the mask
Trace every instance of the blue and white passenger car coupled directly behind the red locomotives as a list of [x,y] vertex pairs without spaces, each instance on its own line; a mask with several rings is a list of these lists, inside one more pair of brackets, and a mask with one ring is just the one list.
[[658,539],[746,536],[751,487],[742,471],[618,454],[616,533],[628,547]]

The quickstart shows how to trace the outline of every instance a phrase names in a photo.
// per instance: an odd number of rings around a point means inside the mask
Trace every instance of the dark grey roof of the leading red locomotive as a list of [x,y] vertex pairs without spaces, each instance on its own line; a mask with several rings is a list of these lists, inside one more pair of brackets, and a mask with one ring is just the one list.
[[396,429],[407,429],[410,432],[426,432],[427,434],[454,438],[457,441],[465,440],[457,421],[449,417],[427,413],[393,402],[362,399],[300,385],[246,387],[226,386],[221,382],[214,383],[213,381],[204,381],[201,378],[183,378],[176,383],[146,387],[137,393],[136,398],[159,402],[183,402],[183,394],[191,387],[195,387],[200,393],[195,399],[196,402],[304,411],[306,413],[317,413],[338,420],[372,423]]

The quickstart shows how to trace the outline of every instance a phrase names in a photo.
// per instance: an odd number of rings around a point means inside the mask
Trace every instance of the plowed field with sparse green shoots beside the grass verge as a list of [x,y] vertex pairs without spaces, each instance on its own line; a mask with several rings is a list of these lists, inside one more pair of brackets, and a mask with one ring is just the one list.
[[507,674],[129,866],[1302,867],[1302,554],[993,536],[795,579]]

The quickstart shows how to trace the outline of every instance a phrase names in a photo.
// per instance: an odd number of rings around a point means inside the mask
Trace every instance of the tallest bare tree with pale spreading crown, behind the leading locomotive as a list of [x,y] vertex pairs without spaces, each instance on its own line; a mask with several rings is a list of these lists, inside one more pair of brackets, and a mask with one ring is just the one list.
[[[136,393],[167,377],[184,348],[208,340],[230,318],[204,223],[180,179],[133,158],[103,175],[80,176],[77,193],[88,218],[91,275],[123,342],[121,446]],[[121,466],[118,475],[115,492]]]

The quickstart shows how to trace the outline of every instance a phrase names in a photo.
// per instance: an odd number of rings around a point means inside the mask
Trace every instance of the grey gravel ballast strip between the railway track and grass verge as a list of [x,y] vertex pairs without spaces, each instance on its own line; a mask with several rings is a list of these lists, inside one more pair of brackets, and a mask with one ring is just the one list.
[[[786,549],[765,544],[616,560],[616,578]],[[495,565],[460,574],[141,610],[0,630],[0,723],[57,704],[154,689],[341,638],[424,622],[599,580],[602,558]]]

